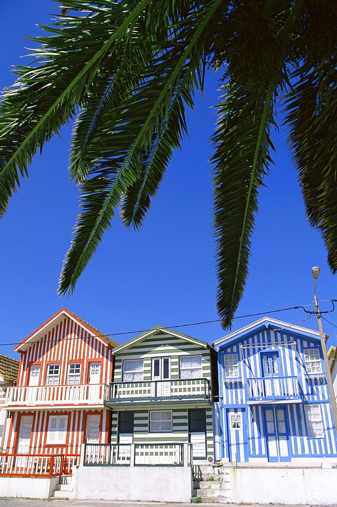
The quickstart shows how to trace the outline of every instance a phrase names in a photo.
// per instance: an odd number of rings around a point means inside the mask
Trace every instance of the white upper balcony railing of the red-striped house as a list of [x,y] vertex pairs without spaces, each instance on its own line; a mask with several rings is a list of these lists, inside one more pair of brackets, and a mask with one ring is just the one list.
[[102,405],[109,397],[107,384],[8,387],[5,406]]

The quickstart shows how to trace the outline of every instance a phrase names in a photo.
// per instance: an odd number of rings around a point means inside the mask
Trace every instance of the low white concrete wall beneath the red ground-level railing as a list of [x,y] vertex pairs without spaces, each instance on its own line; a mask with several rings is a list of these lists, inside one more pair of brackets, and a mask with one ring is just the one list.
[[58,477],[0,477],[0,497],[49,498],[58,484]]

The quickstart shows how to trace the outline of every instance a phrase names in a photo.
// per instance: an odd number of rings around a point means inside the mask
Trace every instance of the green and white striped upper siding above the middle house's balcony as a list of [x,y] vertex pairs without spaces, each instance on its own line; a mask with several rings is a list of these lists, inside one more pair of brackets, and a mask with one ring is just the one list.
[[179,356],[201,355],[203,377],[211,378],[210,353],[208,349],[197,344],[188,343],[179,337],[171,335],[155,335],[131,346],[115,358],[114,382],[122,382],[123,360],[144,359],[144,380],[152,378],[152,358],[171,357],[171,378],[179,379]]

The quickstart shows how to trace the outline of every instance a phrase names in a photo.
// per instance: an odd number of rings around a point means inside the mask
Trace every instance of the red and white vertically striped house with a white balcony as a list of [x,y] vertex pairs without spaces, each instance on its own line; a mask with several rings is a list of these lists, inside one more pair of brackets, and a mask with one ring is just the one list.
[[23,340],[16,387],[7,389],[7,453],[80,454],[110,442],[109,383],[118,345],[62,308]]

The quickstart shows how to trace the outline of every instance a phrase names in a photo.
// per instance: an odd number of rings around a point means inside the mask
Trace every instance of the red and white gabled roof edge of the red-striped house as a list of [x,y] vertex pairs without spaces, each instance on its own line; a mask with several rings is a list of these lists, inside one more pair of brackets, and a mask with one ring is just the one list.
[[90,334],[90,336],[94,336],[100,342],[104,343],[106,346],[116,347],[118,345],[117,342],[106,336],[104,333],[98,331],[98,329],[94,328],[92,325],[88,324],[85,320],[75,315],[75,313],[66,310],[65,308],[61,308],[55,315],[50,317],[46,322],[44,322],[40,327],[31,333],[27,338],[25,338],[19,345],[17,345],[14,350],[16,352],[23,352],[27,350],[31,345],[43,338],[49,331],[51,331],[57,324],[62,322],[64,319],[70,318],[75,320],[78,324],[82,326]]

